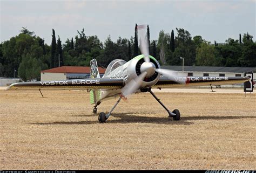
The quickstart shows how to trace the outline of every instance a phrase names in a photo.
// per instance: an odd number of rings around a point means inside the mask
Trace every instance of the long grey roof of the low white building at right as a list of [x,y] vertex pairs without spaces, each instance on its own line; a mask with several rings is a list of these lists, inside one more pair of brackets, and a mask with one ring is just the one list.
[[[173,71],[182,71],[182,66],[163,65],[161,68],[166,68]],[[184,66],[186,72],[228,72],[228,73],[244,73],[256,72],[256,67],[210,67],[210,66]]]

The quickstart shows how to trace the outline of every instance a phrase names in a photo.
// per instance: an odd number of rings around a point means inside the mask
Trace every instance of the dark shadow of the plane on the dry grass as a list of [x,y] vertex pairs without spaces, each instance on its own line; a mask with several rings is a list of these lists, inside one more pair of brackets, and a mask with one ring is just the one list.
[[[113,117],[117,117],[119,119],[113,120],[111,116],[106,121],[106,123],[154,123],[154,124],[181,124],[181,125],[190,125],[193,122],[187,121],[173,121],[170,117],[149,117],[149,116],[138,116],[133,115],[136,113],[121,113],[121,114],[111,114]],[[49,125],[49,124],[97,124],[98,122],[98,114],[92,115],[76,115],[76,116],[85,116],[85,117],[95,117],[96,121],[70,121],[70,122],[45,122],[45,123],[33,123],[39,125]]]

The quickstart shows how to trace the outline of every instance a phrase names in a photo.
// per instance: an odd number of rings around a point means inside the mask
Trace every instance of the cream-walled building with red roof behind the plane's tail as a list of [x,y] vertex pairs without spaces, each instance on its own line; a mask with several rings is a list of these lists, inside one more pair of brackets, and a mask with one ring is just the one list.
[[[105,69],[98,67],[100,77]],[[91,67],[61,66],[41,71],[41,81],[90,78]]]

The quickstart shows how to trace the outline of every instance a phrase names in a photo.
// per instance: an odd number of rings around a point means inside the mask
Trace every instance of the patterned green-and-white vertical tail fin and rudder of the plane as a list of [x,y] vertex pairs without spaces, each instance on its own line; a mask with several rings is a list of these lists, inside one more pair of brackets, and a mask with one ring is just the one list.
[[[98,64],[96,59],[92,59],[90,62],[91,65],[91,78],[100,78],[99,70],[98,70]],[[97,100],[101,98],[100,91],[90,91],[90,103],[96,104]]]

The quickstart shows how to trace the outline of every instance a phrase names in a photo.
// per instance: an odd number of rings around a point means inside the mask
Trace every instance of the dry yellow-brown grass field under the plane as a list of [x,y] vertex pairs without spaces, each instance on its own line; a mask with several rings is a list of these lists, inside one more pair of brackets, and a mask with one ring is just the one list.
[[256,169],[256,94],[156,93],[180,121],[134,94],[100,124],[87,92],[43,93],[0,90],[0,169]]

